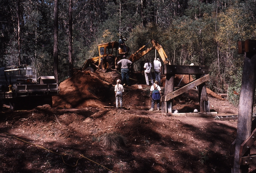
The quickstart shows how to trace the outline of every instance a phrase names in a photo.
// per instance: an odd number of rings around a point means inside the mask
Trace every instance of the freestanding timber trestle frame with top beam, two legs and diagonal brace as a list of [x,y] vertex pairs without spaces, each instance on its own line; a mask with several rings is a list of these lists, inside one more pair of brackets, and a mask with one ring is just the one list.
[[[162,113],[172,113],[172,100],[178,95],[198,86],[200,112],[210,112],[210,105],[206,92],[206,81],[209,80],[207,66],[167,65],[161,66],[161,74],[166,74],[164,96],[161,97]],[[196,75],[196,80],[174,91],[175,74]]]

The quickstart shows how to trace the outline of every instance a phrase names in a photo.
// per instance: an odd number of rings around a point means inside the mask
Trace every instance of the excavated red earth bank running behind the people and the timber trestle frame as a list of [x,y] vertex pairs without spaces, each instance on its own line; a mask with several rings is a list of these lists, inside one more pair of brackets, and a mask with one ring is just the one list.
[[[124,87],[124,107],[126,109],[147,110],[151,106],[149,97],[150,86],[145,85],[145,77],[141,72],[130,74],[130,87]],[[102,108],[106,106],[115,107],[114,86],[121,74],[115,70],[78,71],[70,79],[60,83],[60,93],[53,97],[53,107],[62,108]],[[176,75],[174,86],[180,88],[193,81],[192,75]],[[165,77],[162,78],[164,92]],[[139,89],[140,88],[142,89]],[[218,94],[207,88],[207,94],[214,98],[223,100]],[[193,88],[173,100],[173,109],[179,112],[193,112],[199,109],[198,94]]]

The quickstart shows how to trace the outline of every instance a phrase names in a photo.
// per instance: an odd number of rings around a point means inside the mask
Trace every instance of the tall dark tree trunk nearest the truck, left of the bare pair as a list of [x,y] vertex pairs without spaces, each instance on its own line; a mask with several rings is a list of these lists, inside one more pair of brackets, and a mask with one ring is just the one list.
[[58,51],[58,17],[59,17],[59,0],[55,0],[54,5],[54,45],[53,45],[53,70],[54,78],[59,83],[59,51]]

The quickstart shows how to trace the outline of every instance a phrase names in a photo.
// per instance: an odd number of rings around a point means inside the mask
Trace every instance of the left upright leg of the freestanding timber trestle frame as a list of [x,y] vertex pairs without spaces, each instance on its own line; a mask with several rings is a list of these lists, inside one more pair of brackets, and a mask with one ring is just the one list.
[[[163,98],[166,97],[166,94],[172,93],[174,91],[174,77],[175,74],[166,74]],[[172,113],[172,100],[167,102],[162,100],[162,113]]]

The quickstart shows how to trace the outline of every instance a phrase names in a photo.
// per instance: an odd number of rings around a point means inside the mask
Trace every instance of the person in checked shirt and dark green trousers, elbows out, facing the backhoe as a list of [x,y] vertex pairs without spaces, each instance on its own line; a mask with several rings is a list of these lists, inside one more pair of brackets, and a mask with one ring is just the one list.
[[125,85],[125,78],[128,86],[131,86],[129,81],[129,68],[132,65],[132,61],[126,59],[126,56],[123,56],[123,59],[117,62],[117,65],[121,63],[121,75],[122,75],[122,84]]

